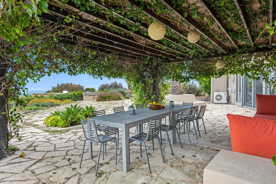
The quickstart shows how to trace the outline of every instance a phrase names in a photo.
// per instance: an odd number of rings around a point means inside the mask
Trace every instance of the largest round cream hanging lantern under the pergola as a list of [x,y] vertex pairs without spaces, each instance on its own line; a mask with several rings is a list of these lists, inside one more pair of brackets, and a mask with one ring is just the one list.
[[165,36],[166,28],[161,22],[153,22],[149,25],[148,33],[153,40],[160,40]]

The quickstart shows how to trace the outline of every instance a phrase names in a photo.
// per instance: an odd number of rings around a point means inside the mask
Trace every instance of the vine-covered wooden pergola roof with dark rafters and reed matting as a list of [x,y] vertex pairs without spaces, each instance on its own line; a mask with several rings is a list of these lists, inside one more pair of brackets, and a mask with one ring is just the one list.
[[[62,43],[76,45],[82,40],[92,50],[131,59],[150,57],[182,62],[266,52],[276,47],[276,36],[267,30],[262,33],[266,23],[276,20],[273,0],[229,0],[234,4],[230,10],[221,0],[154,2],[50,0],[49,12],[41,18],[56,31],[67,30],[66,36],[60,35]],[[147,34],[152,21],[166,27],[161,40],[152,40]],[[187,40],[192,29],[201,35],[197,43]]]

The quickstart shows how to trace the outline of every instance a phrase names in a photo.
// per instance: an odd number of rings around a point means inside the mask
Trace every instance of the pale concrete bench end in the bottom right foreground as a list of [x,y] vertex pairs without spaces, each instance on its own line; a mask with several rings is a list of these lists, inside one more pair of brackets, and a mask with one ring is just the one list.
[[221,150],[204,168],[203,184],[264,183],[276,183],[276,167],[268,158]]

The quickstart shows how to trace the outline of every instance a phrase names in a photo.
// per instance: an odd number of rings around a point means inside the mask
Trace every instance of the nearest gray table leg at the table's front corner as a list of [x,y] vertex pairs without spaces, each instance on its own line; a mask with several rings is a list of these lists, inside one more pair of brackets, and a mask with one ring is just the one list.
[[[141,127],[139,126],[139,129]],[[124,126],[122,128],[122,157],[123,157],[123,171],[129,172],[129,128]]]

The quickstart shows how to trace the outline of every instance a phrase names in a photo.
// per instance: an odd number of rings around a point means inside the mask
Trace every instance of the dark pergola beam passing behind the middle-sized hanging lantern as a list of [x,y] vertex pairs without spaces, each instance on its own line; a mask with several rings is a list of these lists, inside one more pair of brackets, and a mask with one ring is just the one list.
[[[128,3],[132,4],[134,7],[139,7],[139,2],[135,2],[135,0],[126,0]],[[180,30],[177,26],[175,26],[174,24],[171,24],[170,21],[160,17],[160,16],[157,16],[156,13],[154,13],[152,10],[148,9],[148,8],[145,8],[143,7],[143,12],[145,14],[147,14],[147,16],[153,18],[154,20],[156,21],[159,21],[161,23],[164,24],[164,26],[166,26],[167,28],[171,29],[172,31],[174,31],[176,34],[180,35],[181,37],[185,38],[186,40],[188,40],[187,36],[184,35],[183,31]],[[213,52],[211,50],[209,50],[205,45],[201,45],[201,44],[198,44],[198,43],[194,43],[195,45],[197,45],[198,47],[208,51],[209,53],[213,54]]]

